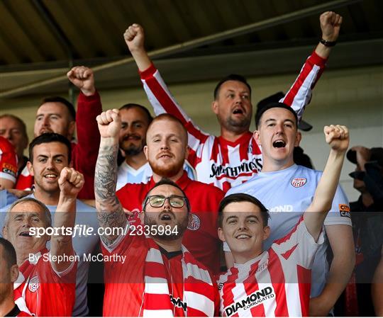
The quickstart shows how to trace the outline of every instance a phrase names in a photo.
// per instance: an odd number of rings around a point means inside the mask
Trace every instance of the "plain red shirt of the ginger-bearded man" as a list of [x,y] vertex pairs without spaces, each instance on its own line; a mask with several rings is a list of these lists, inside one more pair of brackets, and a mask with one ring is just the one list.
[[[218,205],[224,193],[215,186],[193,181],[184,172],[177,180],[190,202],[193,221],[184,233],[182,244],[193,256],[211,270],[218,273],[220,268],[220,247],[218,239]],[[148,183],[128,183],[119,191],[117,197],[123,208],[134,212],[129,218],[131,225],[138,225],[138,212],[142,210],[143,200],[148,191],[155,185],[153,178]]]

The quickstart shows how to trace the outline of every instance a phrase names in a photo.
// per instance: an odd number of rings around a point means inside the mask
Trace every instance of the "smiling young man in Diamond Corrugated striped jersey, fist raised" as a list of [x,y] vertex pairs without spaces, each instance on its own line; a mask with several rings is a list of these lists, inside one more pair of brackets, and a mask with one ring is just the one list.
[[262,244],[270,236],[270,227],[265,205],[246,193],[222,200],[218,234],[230,246],[235,263],[218,279],[221,315],[309,315],[313,258],[324,242],[323,222],[331,210],[349,143],[345,126],[326,126],[324,133],[331,150],[313,199],[287,235],[266,251]]

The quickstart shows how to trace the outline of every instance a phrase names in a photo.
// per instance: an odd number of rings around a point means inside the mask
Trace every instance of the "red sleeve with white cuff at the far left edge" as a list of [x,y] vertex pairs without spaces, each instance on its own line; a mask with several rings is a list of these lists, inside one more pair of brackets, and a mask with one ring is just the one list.
[[11,143],[4,137],[0,139],[0,178],[16,183],[17,156]]

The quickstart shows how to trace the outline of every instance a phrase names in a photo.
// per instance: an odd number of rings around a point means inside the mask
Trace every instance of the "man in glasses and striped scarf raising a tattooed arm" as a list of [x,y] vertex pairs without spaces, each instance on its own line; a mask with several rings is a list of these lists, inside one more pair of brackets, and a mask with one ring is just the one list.
[[[105,261],[104,316],[215,315],[216,283],[182,245],[191,219],[187,196],[163,178],[142,201],[143,227],[129,225],[116,196],[118,110],[97,116],[101,135],[95,196]],[[135,200],[131,191],[126,198]]]

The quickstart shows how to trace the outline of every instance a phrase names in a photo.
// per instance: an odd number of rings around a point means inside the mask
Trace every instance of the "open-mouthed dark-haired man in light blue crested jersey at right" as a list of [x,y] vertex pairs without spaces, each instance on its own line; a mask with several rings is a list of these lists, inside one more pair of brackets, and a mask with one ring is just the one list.
[[[284,103],[272,103],[257,113],[255,140],[262,147],[263,169],[249,181],[231,188],[226,193],[247,193],[262,201],[270,210],[270,238],[268,249],[275,239],[287,235],[296,225],[313,200],[320,171],[294,164],[294,147],[299,145],[301,134],[297,116]],[[348,199],[338,187],[333,206],[324,222],[326,243],[315,256],[311,286],[310,314],[326,316],[350,279],[355,259],[353,232],[348,211]],[[333,251],[328,273],[327,242]],[[226,246],[224,250],[228,251]],[[226,259],[228,267],[230,261]],[[326,283],[327,278],[327,283]],[[326,285],[325,285],[326,284]]]

